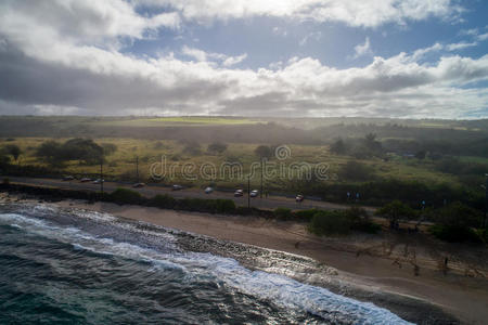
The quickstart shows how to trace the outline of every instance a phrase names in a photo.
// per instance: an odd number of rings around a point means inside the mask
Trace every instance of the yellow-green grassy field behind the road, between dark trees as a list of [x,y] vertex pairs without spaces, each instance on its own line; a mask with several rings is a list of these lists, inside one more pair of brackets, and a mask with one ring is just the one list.
[[[36,148],[44,141],[52,140],[49,138],[16,138],[0,140],[0,146],[5,144],[16,144],[21,147],[23,154],[17,164],[47,166],[46,162],[39,160],[36,156]],[[54,139],[63,142],[67,139]],[[151,180],[150,169],[155,162],[165,159],[167,174],[169,168],[176,170],[175,178],[164,179],[165,183],[183,183],[194,186],[204,186],[214,183],[218,186],[232,187],[246,183],[245,179],[230,179],[229,177],[220,178],[217,176],[214,180],[198,177],[195,180],[185,180],[181,174],[183,166],[193,165],[194,171],[191,174],[198,176],[200,169],[205,164],[213,164],[219,168],[226,161],[239,162],[243,166],[245,173],[248,172],[253,162],[258,162],[259,158],[255,155],[255,148],[259,144],[247,143],[228,143],[228,148],[222,154],[214,154],[207,151],[208,143],[200,143],[201,153],[189,154],[184,152],[185,145],[172,140],[136,140],[120,138],[103,138],[95,139],[98,144],[112,143],[117,146],[117,151],[106,157],[104,172],[107,179],[117,179],[133,181],[136,180],[136,160],[139,160],[139,174],[141,180],[146,182],[156,182]],[[270,159],[275,164],[275,170],[279,168],[290,168],[294,162],[307,162],[310,166],[317,164],[328,164],[330,169],[328,174],[330,179],[326,182],[344,182],[341,177],[342,167],[352,159],[348,156],[333,155],[329,152],[328,145],[290,145],[291,155],[287,159],[279,160]],[[434,169],[433,162],[428,159],[418,160],[413,158],[403,158],[393,156],[388,161],[380,158],[371,158],[358,160],[370,166],[374,170],[374,178],[390,178],[398,180],[418,180],[426,183],[450,183],[457,184],[455,177],[447,173],[438,172]],[[95,176],[100,170],[99,166],[87,166],[79,161],[68,161],[64,168],[64,173],[76,176]],[[286,171],[292,172],[292,171]],[[285,173],[287,174],[287,173]],[[260,181],[260,169],[256,170],[256,176],[252,180],[254,186]],[[279,187],[281,181],[275,178],[268,181],[269,186]]]

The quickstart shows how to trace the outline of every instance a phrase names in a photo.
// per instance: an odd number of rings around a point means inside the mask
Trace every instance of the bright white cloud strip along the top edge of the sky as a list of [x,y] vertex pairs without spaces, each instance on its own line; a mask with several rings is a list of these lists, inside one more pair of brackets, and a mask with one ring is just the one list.
[[[457,1],[455,1],[457,2]],[[190,21],[273,16],[316,22],[342,22],[377,27],[428,17],[457,18],[464,10],[451,0],[138,0],[134,3],[171,8]]]

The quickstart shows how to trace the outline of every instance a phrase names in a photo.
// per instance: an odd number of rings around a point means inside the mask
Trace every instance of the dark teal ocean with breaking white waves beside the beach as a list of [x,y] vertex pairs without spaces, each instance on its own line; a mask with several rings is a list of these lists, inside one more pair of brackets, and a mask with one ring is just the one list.
[[254,246],[232,255],[215,243],[106,213],[0,205],[0,324],[409,324],[287,276],[292,255],[270,263]]

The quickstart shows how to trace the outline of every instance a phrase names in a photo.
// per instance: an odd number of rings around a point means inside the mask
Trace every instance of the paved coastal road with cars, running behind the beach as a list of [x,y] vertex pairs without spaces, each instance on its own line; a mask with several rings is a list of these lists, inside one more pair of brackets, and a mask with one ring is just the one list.
[[[81,183],[77,180],[62,181],[57,179],[38,179],[38,178],[23,178],[23,177],[8,177],[11,183],[37,185],[37,186],[51,186],[68,190],[90,190],[100,191],[100,184],[92,184],[91,182]],[[141,188],[132,188],[130,184],[105,182],[103,185],[104,191],[112,192],[117,187],[130,188],[137,191],[146,197],[152,197],[156,194],[167,194],[175,198],[227,198],[235,202],[237,206],[247,206],[247,193],[242,197],[234,197],[232,192],[214,191],[211,194],[205,194],[203,190],[197,188],[183,188],[180,191],[172,191],[171,187],[165,187],[160,185],[146,185]],[[349,206],[338,205],[328,202],[309,200],[305,199],[303,203],[296,203],[294,198],[284,196],[269,196],[268,198],[252,197],[251,206],[260,209],[275,209],[275,208],[288,208],[292,210],[320,208],[326,210],[334,209],[347,209]],[[368,211],[374,211],[374,208],[364,207]]]

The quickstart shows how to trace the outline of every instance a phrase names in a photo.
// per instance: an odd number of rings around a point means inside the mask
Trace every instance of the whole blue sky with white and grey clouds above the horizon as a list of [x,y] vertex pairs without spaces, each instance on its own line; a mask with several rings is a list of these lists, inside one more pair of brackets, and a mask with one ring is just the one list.
[[486,0],[2,0],[0,115],[488,118]]

